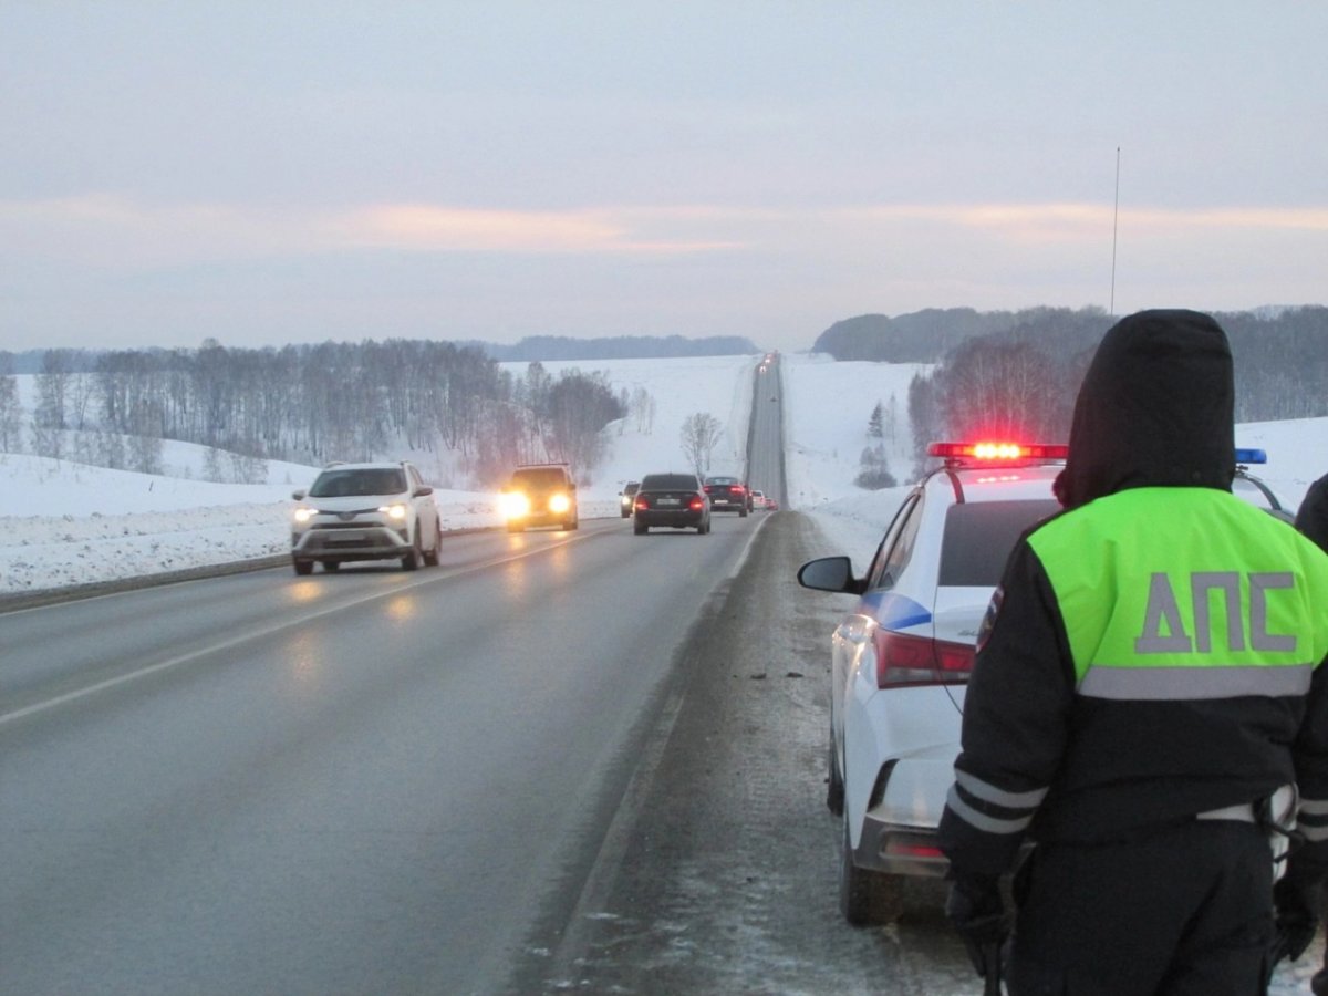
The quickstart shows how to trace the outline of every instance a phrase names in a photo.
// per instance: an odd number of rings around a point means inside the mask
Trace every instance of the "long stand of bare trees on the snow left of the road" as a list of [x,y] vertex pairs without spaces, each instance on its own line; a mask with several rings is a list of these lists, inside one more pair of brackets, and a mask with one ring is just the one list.
[[[21,424],[8,355],[0,353],[0,452],[74,457],[157,473],[162,441],[224,453],[227,477],[262,479],[267,459],[324,463],[450,450],[479,486],[517,463],[563,461],[588,479],[602,430],[648,397],[615,393],[604,373],[539,363],[523,376],[475,347],[421,340],[282,349],[48,349],[36,406]],[[89,363],[90,359],[90,363]]]

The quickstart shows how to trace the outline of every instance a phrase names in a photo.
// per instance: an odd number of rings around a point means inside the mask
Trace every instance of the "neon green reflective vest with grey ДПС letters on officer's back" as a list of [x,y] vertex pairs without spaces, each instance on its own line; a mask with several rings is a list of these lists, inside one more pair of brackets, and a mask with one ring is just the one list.
[[1309,622],[1328,600],[1328,556],[1230,493],[1129,489],[1048,522],[1029,544],[1082,696],[1305,695],[1328,656],[1328,631]]

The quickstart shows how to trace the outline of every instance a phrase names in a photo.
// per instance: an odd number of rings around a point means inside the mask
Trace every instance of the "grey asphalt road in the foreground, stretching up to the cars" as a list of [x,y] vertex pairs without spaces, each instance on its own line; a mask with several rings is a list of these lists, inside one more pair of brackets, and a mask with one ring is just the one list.
[[757,523],[0,616],[0,992],[517,991]]

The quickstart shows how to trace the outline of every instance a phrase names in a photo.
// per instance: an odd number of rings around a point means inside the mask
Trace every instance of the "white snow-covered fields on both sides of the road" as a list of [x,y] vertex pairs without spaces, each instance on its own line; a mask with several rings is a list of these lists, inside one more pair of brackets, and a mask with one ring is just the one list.
[[[899,481],[907,481],[908,382],[919,368],[834,363],[801,353],[782,359],[790,507],[813,513],[834,551],[853,555],[861,568],[902,493],[862,491],[853,485],[870,441],[867,424],[880,402],[887,412],[888,466]],[[728,356],[546,364],[554,374],[564,367],[603,371],[615,389],[631,393],[644,388],[655,401],[651,425],[639,428],[628,417],[606,430],[608,456],[595,479],[582,489],[582,515],[612,518],[619,514],[623,482],[648,470],[684,467],[680,429],[696,412],[724,424],[712,469],[741,469],[752,374],[760,360]],[[31,394],[31,384],[24,388],[23,394]],[[1268,452],[1268,465],[1259,474],[1289,509],[1297,507],[1309,483],[1328,471],[1328,418],[1242,425],[1236,442]],[[202,479],[203,448],[167,442],[162,456],[166,475],[0,453],[0,595],[287,551],[291,491],[307,487],[316,467],[272,461],[266,483],[214,483]],[[438,462],[436,454],[402,456],[417,458],[426,475]],[[501,523],[493,493],[440,490],[436,498],[448,529]]]

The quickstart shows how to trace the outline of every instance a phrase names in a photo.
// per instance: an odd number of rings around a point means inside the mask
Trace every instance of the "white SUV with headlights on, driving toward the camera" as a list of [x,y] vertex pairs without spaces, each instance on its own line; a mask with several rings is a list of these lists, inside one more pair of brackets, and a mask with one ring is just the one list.
[[408,571],[438,563],[438,506],[433,489],[408,461],[329,463],[308,493],[296,491],[293,498],[296,574],[309,574],[315,563],[335,571],[347,560],[400,559]]

